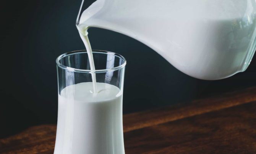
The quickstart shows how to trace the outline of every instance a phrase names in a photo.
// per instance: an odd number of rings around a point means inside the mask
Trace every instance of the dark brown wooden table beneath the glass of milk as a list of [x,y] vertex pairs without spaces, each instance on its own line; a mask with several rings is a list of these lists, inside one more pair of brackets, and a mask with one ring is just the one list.
[[[123,116],[126,154],[256,153],[256,87]],[[56,125],[0,139],[0,153],[53,153]]]

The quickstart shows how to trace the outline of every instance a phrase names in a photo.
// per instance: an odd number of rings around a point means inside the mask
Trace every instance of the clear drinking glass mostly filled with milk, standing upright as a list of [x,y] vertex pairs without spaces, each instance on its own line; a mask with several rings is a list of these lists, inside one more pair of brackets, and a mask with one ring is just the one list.
[[[126,60],[116,53],[92,50],[95,71],[86,50],[56,59],[58,124],[55,154],[124,153],[122,100]],[[93,93],[92,74],[98,93]]]

